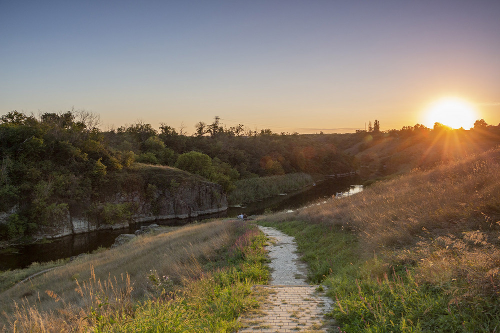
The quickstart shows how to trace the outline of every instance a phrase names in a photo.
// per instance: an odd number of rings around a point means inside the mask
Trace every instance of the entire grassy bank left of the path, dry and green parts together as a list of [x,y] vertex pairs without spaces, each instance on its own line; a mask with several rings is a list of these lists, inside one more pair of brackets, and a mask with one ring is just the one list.
[[227,220],[137,237],[3,291],[0,331],[234,332],[267,281],[264,242]]

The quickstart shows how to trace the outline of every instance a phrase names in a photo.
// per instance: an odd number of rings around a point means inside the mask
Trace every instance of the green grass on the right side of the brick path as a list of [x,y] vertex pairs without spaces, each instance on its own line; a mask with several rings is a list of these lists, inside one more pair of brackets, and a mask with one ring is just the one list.
[[[500,300],[466,281],[422,282],[414,263],[366,256],[354,233],[303,221],[265,222],[295,237],[308,279],[327,286],[330,314],[344,332],[493,332]],[[464,291],[469,294],[464,295]]]

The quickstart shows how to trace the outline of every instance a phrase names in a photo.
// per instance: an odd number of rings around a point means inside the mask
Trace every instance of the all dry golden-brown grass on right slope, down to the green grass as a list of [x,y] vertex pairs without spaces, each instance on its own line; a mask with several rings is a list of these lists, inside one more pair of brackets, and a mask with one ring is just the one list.
[[383,253],[433,285],[465,282],[462,295],[500,295],[500,148],[265,220],[351,230],[361,257]]

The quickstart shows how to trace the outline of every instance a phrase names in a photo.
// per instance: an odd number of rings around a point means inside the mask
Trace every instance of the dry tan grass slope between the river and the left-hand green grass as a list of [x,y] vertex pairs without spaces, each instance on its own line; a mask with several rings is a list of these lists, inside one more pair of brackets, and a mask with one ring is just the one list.
[[17,332],[81,331],[85,316],[98,317],[99,304],[128,313],[132,298],[151,291],[151,271],[177,282],[196,278],[202,273],[199,263],[234,241],[232,228],[227,221],[214,221],[138,237],[14,286],[0,295],[0,331],[14,325]]

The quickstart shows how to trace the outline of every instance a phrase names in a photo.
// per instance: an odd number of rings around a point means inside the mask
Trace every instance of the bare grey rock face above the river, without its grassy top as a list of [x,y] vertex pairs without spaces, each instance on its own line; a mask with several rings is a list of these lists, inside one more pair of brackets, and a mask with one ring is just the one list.
[[99,205],[94,205],[97,207],[97,213],[94,214],[82,216],[68,211],[59,221],[39,226],[34,237],[51,239],[95,230],[128,228],[135,223],[218,213],[227,210],[227,198],[220,185],[198,178],[185,182],[174,181],[163,187],[151,185],[146,180],[143,184],[128,188],[122,186],[121,191],[107,195],[100,205],[128,205],[129,215],[110,222],[102,212],[99,213]]

